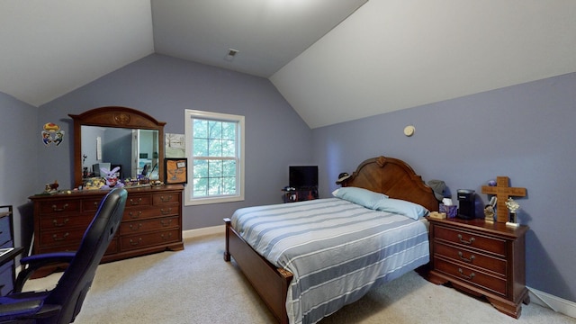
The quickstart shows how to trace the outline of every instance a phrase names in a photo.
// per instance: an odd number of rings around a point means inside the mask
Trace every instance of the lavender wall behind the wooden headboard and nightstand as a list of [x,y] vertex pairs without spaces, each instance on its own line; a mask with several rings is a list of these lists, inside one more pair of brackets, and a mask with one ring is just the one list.
[[[320,195],[337,187],[338,173],[379,155],[405,160],[426,182],[444,180],[451,193],[473,189],[479,205],[482,185],[507,175],[527,188],[517,199],[519,222],[530,226],[527,285],[576,302],[575,123],[572,73],[316,129]],[[402,132],[409,124],[410,138]]]

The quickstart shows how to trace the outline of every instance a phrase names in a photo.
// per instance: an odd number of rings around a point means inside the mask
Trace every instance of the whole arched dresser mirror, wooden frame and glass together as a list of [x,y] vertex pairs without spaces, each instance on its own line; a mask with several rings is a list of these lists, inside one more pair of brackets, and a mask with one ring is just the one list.
[[119,166],[120,179],[164,179],[164,125],[145,112],[109,106],[69,114],[74,120],[74,184]]

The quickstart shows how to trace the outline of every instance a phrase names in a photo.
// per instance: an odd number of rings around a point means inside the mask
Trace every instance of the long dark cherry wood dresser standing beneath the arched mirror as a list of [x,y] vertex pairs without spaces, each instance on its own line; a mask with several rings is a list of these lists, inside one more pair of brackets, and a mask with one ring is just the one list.
[[[182,250],[181,184],[128,188],[128,199],[115,237],[102,262],[164,250]],[[105,190],[34,195],[33,254],[75,251],[94,218]],[[57,270],[57,266],[42,272]]]

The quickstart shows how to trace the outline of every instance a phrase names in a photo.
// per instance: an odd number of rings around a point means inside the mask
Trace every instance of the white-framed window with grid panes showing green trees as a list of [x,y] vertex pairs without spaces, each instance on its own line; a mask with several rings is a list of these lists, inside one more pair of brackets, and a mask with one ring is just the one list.
[[244,200],[244,116],[186,109],[185,204]]

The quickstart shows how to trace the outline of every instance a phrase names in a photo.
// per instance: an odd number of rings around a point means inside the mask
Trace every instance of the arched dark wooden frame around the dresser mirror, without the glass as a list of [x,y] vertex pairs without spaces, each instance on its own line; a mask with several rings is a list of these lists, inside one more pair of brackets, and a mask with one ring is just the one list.
[[82,185],[82,126],[102,126],[135,130],[158,131],[158,180],[164,181],[164,126],[145,112],[121,106],[94,108],[78,115],[68,114],[74,120],[74,186]]

